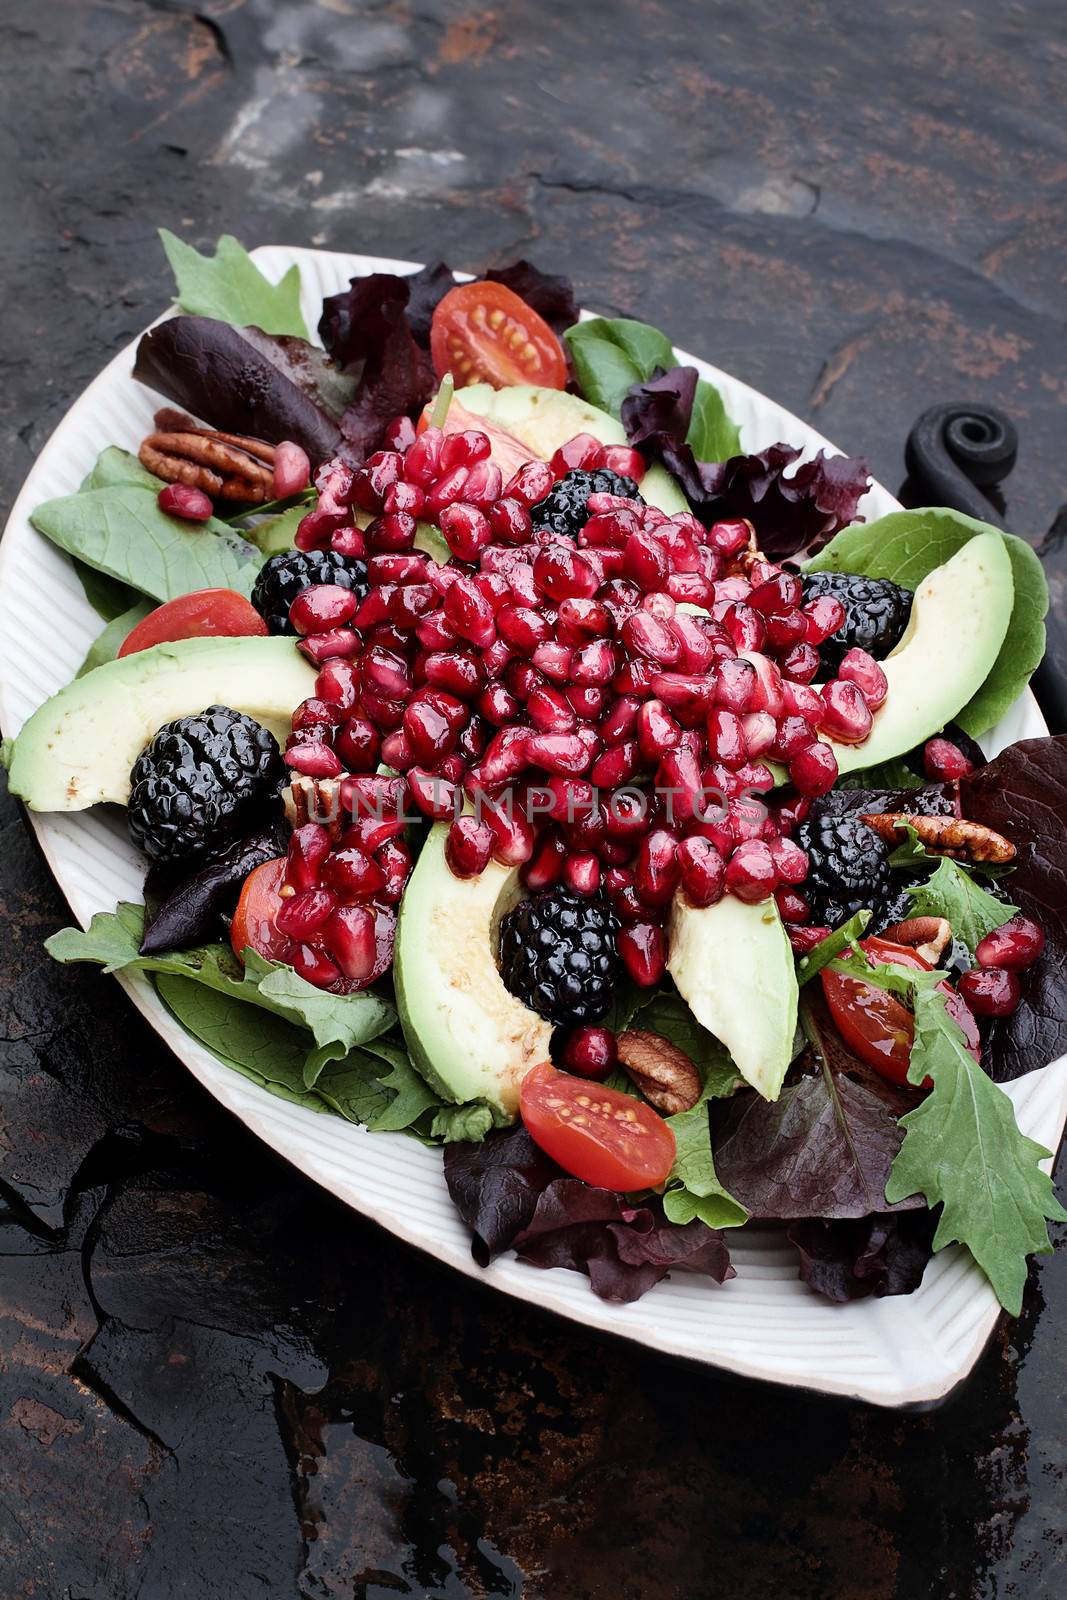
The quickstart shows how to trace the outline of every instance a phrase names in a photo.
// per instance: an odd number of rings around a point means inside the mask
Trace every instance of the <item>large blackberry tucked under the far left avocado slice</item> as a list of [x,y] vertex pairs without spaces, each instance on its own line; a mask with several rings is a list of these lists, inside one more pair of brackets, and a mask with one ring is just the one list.
[[152,861],[219,854],[278,790],[285,766],[267,728],[229,706],[165,723],[130,774],[130,837]]

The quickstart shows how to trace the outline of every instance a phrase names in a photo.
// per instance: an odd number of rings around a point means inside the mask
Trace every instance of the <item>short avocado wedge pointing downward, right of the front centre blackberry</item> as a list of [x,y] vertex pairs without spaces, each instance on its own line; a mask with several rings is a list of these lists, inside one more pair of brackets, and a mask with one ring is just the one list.
[[749,906],[725,894],[691,906],[675,894],[667,920],[667,971],[693,1016],[765,1099],[777,1099],[797,1037],[797,970],[773,899]]

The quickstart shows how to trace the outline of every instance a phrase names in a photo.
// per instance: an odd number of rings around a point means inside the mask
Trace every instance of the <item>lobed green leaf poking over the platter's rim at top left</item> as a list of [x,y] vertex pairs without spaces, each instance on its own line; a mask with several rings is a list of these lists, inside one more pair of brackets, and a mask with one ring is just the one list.
[[176,299],[195,317],[214,317],[234,328],[307,338],[301,315],[301,269],[290,267],[280,283],[270,283],[232,234],[224,234],[214,256],[202,256],[168,229],[160,229],[176,282]]

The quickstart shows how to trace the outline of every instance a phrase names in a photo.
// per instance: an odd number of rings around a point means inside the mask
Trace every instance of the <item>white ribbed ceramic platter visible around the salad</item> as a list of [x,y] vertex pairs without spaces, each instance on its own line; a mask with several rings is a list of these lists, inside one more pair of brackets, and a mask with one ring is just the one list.
[[[304,315],[318,320],[323,294],[366,272],[410,272],[418,262],[323,250],[262,246],[261,269],[277,280],[296,262]],[[654,307],[646,307],[656,320]],[[136,344],[136,341],[134,341]],[[106,445],[136,451],[158,397],[131,378],[134,344],[122,350],[74,402],[40,453],[11,510],[0,546],[0,723],[14,734],[30,712],[77,672],[101,621],[67,558],[29,522],[40,501],[77,490]],[[745,450],[776,440],[805,454],[830,448],[814,429],[728,373],[685,352],[723,394]],[[862,512],[897,510],[873,485]],[[42,586],[42,574],[46,586]],[[221,696],[224,698],[224,696]],[[1027,693],[984,741],[989,752],[1046,733]],[[142,861],[122,821],[104,813],[29,814],[51,870],[85,926],[98,910],[141,898]],[[832,1306],[797,1278],[795,1253],[773,1229],[731,1237],[737,1277],[718,1286],[675,1272],[632,1306],[598,1301],[584,1277],[542,1272],[504,1258],[488,1270],[470,1259],[470,1240],[453,1210],[440,1150],[403,1134],[368,1134],[259,1090],[192,1040],[141,976],[120,976],[138,1010],[189,1070],[266,1144],[355,1211],[459,1272],[587,1328],[619,1334],[752,1378],[851,1395],[877,1405],[923,1405],[947,1394],[977,1360],[998,1315],[982,1272],[958,1246],[929,1262],[910,1296]],[[1056,1149],[1067,1115],[1067,1058],[1008,1085],[1025,1133]]]

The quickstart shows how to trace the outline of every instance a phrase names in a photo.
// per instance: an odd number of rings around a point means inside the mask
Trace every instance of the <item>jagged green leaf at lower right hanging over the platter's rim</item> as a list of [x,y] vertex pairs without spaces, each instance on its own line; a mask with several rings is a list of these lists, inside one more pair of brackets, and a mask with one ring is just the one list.
[[1048,1221],[1067,1221],[1038,1162],[1051,1154],[1027,1139],[1011,1101],[982,1072],[936,989],[917,987],[909,1080],[933,1090],[901,1118],[904,1144],[886,1200],[925,1195],[941,1205],[934,1251],[965,1245],[1000,1304],[1019,1315],[1027,1256],[1048,1254]]

